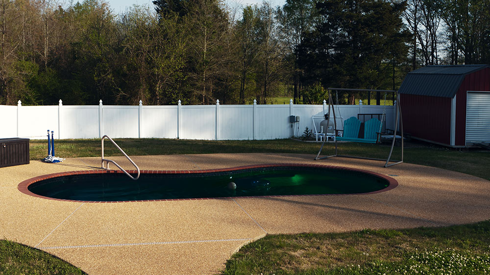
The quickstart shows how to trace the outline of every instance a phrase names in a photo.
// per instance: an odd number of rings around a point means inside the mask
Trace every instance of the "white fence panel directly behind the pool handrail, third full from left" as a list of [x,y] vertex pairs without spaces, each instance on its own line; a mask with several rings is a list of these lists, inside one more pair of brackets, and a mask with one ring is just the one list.
[[138,106],[102,107],[102,136],[138,138]]

